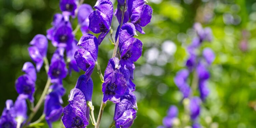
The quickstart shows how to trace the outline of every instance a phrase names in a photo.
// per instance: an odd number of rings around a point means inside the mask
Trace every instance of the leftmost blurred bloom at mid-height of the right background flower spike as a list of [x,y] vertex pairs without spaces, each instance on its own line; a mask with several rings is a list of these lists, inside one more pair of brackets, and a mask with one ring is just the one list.
[[187,98],[190,95],[191,89],[187,84],[187,78],[189,75],[189,71],[187,69],[182,69],[177,72],[174,83],[180,89],[181,93],[183,94],[183,98]]

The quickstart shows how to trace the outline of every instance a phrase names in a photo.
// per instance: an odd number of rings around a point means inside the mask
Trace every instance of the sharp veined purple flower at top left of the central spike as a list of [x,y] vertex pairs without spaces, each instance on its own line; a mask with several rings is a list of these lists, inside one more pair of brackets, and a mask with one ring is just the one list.
[[94,8],[96,10],[89,15],[88,28],[93,33],[100,33],[98,37],[98,44],[100,45],[111,27],[113,4],[110,0],[98,0]]

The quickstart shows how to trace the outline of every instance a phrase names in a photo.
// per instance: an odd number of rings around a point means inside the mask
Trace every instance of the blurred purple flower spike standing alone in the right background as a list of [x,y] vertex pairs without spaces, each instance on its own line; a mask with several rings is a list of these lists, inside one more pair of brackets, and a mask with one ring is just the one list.
[[[174,82],[183,94],[183,98],[190,99],[188,107],[190,111],[190,118],[194,123],[193,127],[198,128],[201,127],[197,121],[197,118],[200,115],[200,104],[201,101],[204,101],[209,95],[207,80],[210,78],[210,73],[207,68],[214,61],[215,55],[210,48],[204,48],[202,54],[197,52],[202,42],[210,42],[212,40],[211,29],[202,28],[201,24],[196,23],[194,24],[194,30],[197,33],[197,37],[193,39],[191,45],[187,48],[189,53],[189,58],[186,61],[187,69],[181,69],[177,72]],[[187,84],[187,79],[190,74],[193,74],[193,81],[191,83],[192,87]],[[194,86],[198,86],[200,98],[196,96],[193,97],[193,91],[195,91],[193,90]]]

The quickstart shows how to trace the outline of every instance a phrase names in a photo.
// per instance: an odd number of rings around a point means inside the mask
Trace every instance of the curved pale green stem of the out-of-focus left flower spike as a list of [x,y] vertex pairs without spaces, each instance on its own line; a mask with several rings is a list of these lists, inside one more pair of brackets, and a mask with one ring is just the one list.
[[[44,58],[44,64],[45,64],[45,71],[46,71],[46,74],[48,73],[49,71],[49,63],[48,63],[48,60],[47,58]],[[33,109],[33,111],[30,113],[26,123],[23,125],[23,128],[26,128],[28,123],[32,120],[32,118],[35,116],[35,114],[37,113],[37,111],[39,110],[39,108],[41,107],[41,105],[43,104],[44,102],[44,99],[45,99],[45,96],[48,92],[48,89],[49,89],[49,86],[51,85],[51,78],[48,77],[47,79],[47,82],[45,84],[45,87],[44,87],[44,90],[43,90],[43,93],[37,103],[37,105],[35,105],[35,108]]]

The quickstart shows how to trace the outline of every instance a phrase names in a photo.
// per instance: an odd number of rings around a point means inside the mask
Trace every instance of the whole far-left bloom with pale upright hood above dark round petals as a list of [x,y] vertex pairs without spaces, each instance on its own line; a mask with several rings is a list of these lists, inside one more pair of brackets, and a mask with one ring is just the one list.
[[35,80],[37,79],[36,71],[31,62],[24,63],[22,70],[26,73],[19,76],[15,82],[18,94],[26,96],[30,102],[34,101],[33,93],[35,91]]

